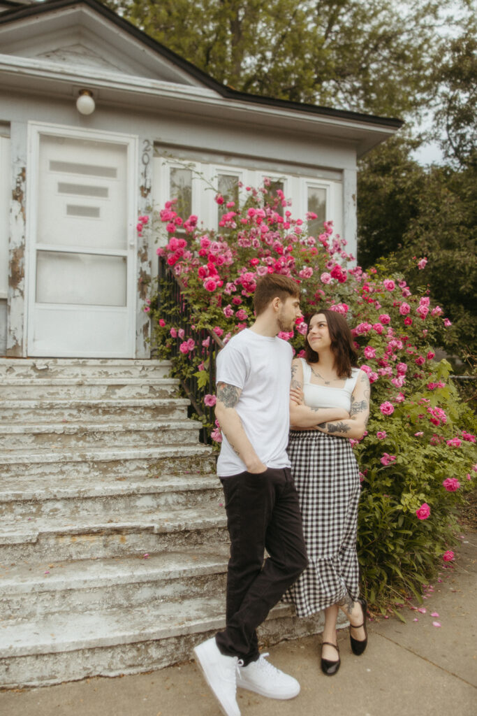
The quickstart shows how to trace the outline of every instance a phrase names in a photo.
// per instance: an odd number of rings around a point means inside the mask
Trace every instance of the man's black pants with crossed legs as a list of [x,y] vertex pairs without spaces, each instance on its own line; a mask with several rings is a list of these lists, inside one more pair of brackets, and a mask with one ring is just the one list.
[[[289,468],[222,478],[230,534],[225,632],[215,637],[222,654],[246,666],[258,656],[257,627],[308,564],[303,528]],[[270,555],[265,562],[265,548]]]

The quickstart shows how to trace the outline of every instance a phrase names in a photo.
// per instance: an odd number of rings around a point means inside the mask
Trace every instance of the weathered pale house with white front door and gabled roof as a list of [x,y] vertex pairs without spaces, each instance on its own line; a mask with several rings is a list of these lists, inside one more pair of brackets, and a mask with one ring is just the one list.
[[0,1],[0,355],[149,357],[137,216],[216,225],[199,174],[270,177],[355,253],[356,162],[400,125],[236,92],[96,0]]

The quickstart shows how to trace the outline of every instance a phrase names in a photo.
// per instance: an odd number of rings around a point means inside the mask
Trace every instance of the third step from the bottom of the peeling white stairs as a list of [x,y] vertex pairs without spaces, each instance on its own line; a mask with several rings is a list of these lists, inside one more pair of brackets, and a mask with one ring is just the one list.
[[141,556],[172,548],[227,541],[219,504],[137,511],[103,518],[10,518],[0,525],[1,563]]

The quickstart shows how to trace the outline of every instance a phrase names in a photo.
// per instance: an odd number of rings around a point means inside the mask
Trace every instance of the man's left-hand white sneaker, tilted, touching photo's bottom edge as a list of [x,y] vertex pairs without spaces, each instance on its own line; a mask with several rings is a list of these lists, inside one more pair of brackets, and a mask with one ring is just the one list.
[[220,704],[225,716],[240,716],[237,704],[237,657],[226,657],[215,643],[215,637],[207,639],[194,649],[197,666],[202,669],[205,680]]

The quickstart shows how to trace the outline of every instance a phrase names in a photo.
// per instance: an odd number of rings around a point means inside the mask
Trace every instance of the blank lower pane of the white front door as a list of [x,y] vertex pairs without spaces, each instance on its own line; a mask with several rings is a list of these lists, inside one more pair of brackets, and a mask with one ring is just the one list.
[[126,305],[126,257],[38,251],[36,303]]

